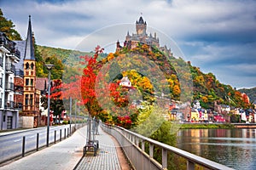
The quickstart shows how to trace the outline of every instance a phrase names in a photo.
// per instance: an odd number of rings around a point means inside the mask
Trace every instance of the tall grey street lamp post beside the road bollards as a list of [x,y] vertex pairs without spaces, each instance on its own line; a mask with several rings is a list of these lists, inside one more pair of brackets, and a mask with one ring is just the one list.
[[47,116],[47,136],[46,136],[46,146],[49,146],[49,95],[50,95],[50,70],[52,69],[52,67],[54,67],[55,65],[52,64],[45,64],[44,65],[47,70],[48,70],[48,116]]

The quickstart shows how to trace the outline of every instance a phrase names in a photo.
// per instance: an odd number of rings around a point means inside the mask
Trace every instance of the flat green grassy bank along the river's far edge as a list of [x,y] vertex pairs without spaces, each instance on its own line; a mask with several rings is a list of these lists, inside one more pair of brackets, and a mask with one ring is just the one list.
[[180,127],[181,129],[189,129],[189,128],[236,128],[233,124],[230,123],[183,123]]

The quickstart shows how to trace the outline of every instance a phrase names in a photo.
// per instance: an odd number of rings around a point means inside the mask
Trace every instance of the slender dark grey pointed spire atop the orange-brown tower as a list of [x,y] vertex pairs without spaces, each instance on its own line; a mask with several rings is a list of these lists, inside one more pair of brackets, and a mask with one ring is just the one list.
[[32,26],[31,26],[30,15],[29,15],[29,21],[28,21],[27,35],[26,35],[26,49],[25,49],[24,59],[36,60],[34,55],[34,45],[33,45],[33,38],[32,38]]

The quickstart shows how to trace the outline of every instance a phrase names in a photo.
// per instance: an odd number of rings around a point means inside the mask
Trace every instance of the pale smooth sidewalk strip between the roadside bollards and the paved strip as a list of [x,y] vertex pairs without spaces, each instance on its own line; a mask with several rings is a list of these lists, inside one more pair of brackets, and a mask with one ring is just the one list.
[[52,144],[44,150],[39,150],[29,156],[0,167],[0,170],[71,170],[83,156],[86,126],[79,128],[73,135],[57,144]]

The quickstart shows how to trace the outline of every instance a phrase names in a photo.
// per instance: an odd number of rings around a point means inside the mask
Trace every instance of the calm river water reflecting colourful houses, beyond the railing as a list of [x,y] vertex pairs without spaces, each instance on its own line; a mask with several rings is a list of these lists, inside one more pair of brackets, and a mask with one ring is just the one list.
[[235,169],[256,169],[256,129],[181,129],[177,148]]

